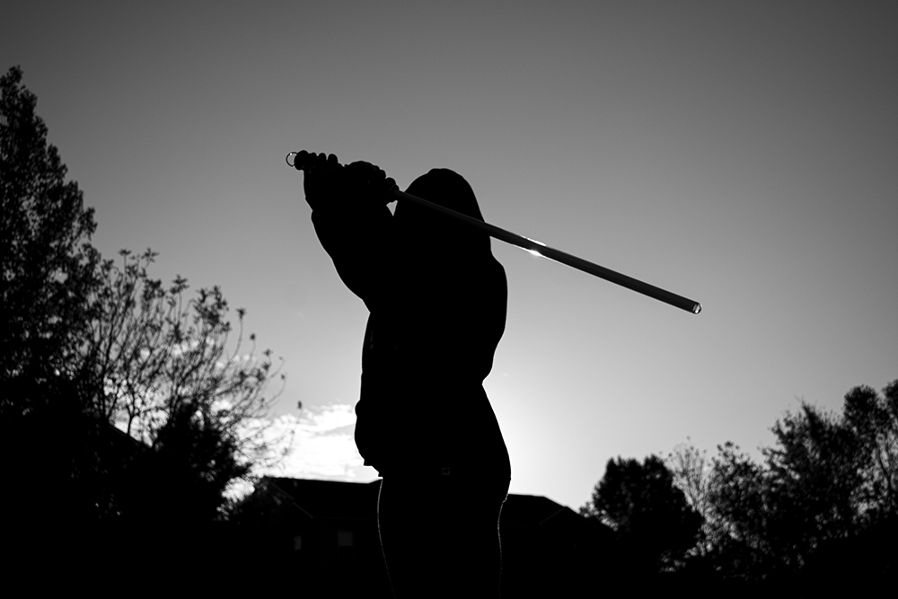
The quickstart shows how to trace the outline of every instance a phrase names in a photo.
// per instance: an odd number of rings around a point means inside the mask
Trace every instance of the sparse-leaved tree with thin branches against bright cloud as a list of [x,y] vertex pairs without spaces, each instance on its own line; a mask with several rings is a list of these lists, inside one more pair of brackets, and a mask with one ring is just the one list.
[[233,327],[219,287],[187,299],[185,278],[166,287],[148,276],[153,251],[119,253],[120,268],[113,260],[101,266],[84,340],[93,409],[151,451],[169,454],[166,461],[188,464],[222,498],[253,467],[279,458],[272,445],[287,446],[272,444],[266,418],[280,393],[269,393],[269,383],[279,378],[283,390],[285,375],[272,368],[269,349],[257,353],[255,334],[246,347],[242,308],[228,350]]

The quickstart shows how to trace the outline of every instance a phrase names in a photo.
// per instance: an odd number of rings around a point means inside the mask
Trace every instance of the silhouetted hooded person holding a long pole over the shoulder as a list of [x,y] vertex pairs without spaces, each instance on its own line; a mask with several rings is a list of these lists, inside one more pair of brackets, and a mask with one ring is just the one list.
[[[304,155],[297,160],[304,159]],[[505,330],[489,237],[420,207],[367,163],[306,171],[321,244],[370,316],[356,445],[383,477],[378,526],[398,597],[497,596],[511,467],[483,379]],[[407,190],[483,220],[471,186],[435,169]]]

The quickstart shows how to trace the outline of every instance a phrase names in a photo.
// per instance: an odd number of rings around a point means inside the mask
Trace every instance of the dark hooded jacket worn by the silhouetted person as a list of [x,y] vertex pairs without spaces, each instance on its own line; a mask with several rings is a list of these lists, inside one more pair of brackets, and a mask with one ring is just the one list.
[[[408,193],[482,220],[471,186],[435,169]],[[313,210],[324,249],[370,315],[362,349],[356,445],[391,473],[510,476],[483,390],[505,330],[505,270],[489,237],[426,207],[395,215],[371,198],[334,198]]]

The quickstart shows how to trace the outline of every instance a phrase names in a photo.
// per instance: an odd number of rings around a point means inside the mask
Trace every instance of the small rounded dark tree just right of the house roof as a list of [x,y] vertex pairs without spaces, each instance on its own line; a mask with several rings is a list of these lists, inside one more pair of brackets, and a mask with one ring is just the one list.
[[645,573],[674,568],[697,540],[701,516],[686,503],[664,461],[649,455],[609,460],[580,513],[608,524],[632,556],[631,565]]

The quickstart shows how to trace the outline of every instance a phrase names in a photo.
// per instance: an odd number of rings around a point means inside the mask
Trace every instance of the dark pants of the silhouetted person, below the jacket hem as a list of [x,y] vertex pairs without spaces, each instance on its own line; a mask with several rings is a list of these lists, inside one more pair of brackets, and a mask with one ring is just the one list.
[[377,524],[397,599],[499,596],[498,524],[508,483],[452,474],[383,478]]

